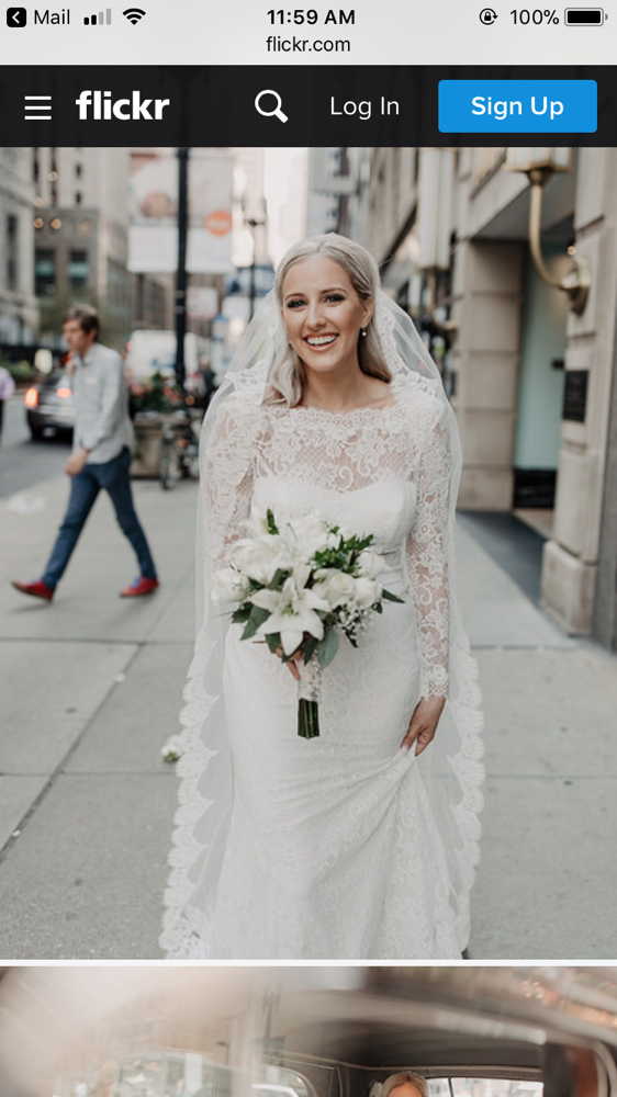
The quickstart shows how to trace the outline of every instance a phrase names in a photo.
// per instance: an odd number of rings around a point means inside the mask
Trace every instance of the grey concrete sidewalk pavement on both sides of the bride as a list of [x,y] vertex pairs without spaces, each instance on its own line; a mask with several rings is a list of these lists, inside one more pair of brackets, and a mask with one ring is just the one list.
[[[132,552],[106,497],[56,601],[41,574],[58,477],[0,500],[0,957],[158,960],[193,633],[197,487],[135,484],[161,587],[127,601]],[[615,955],[617,659],[564,636],[459,529],[463,613],[485,699],[483,859],[472,960]],[[413,957],[408,958],[413,960]]]

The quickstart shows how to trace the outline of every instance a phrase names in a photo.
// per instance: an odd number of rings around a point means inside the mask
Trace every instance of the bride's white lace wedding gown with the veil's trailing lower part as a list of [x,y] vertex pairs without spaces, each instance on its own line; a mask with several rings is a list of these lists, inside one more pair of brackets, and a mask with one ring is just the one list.
[[[357,649],[341,638],[312,740],[296,734],[296,683],[265,643],[226,630],[222,689],[215,675],[204,687],[210,649],[198,644],[170,958],[439,960],[467,943],[481,716],[469,648],[450,642],[448,431],[431,385],[395,377],[390,405],[346,414],[242,393],[221,405],[204,468],[213,566],[227,566],[251,507],[278,521],[316,508],[374,534],[380,581],[404,602],[372,614]],[[417,759],[401,751],[419,698],[448,690],[434,744]]]

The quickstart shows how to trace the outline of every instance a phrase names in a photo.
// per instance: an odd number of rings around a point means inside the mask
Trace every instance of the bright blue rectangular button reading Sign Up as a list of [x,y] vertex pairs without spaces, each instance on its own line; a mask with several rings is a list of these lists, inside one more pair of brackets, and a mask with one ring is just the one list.
[[442,134],[597,129],[595,80],[440,80]]

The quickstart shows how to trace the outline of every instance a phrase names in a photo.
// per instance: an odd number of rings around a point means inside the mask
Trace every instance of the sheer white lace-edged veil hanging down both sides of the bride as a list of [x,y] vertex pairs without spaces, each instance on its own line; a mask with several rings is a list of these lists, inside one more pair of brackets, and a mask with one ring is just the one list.
[[[461,951],[469,939],[469,893],[479,860],[482,808],[482,713],[478,669],[470,654],[456,597],[453,527],[461,473],[459,432],[441,378],[410,316],[382,291],[374,301],[375,325],[383,358],[400,385],[416,385],[444,405],[451,455],[449,554],[451,595],[450,687],[437,735],[418,758],[423,779],[448,860],[450,905]],[[259,419],[268,376],[287,347],[287,333],[273,294],[261,303],[223,384],[205,416],[201,439],[201,485],[198,511],[197,641],[184,689],[183,733],[178,776],[171,873],[165,894],[160,946],[169,959],[207,959],[214,898],[222,867],[233,799],[233,772],[222,700],[223,641],[226,620],[209,598],[209,446],[225,402],[237,394],[246,415],[247,454],[250,427]],[[249,460],[249,459],[247,459]],[[239,485],[235,485],[238,487]],[[233,490],[234,485],[229,485]],[[411,715],[411,713],[410,713]],[[293,733],[293,730],[292,730]],[[215,959],[215,958],[214,958]],[[362,959],[362,958],[358,958]],[[379,958],[375,958],[379,959]],[[413,960],[413,957],[401,959]]]

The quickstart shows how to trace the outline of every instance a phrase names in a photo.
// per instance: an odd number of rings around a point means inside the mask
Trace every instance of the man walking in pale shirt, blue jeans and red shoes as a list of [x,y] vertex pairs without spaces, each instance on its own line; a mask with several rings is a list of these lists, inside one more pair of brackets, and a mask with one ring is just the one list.
[[70,308],[63,331],[71,354],[76,404],[74,449],[66,465],[71,478],[70,497],[42,578],[35,583],[13,581],[13,587],[24,595],[52,601],[94,500],[104,488],[139,565],[138,578],[121,591],[121,597],[149,595],[158,587],[158,579],[131,491],[133,427],[122,359],[98,342],[99,317],[89,305]]

